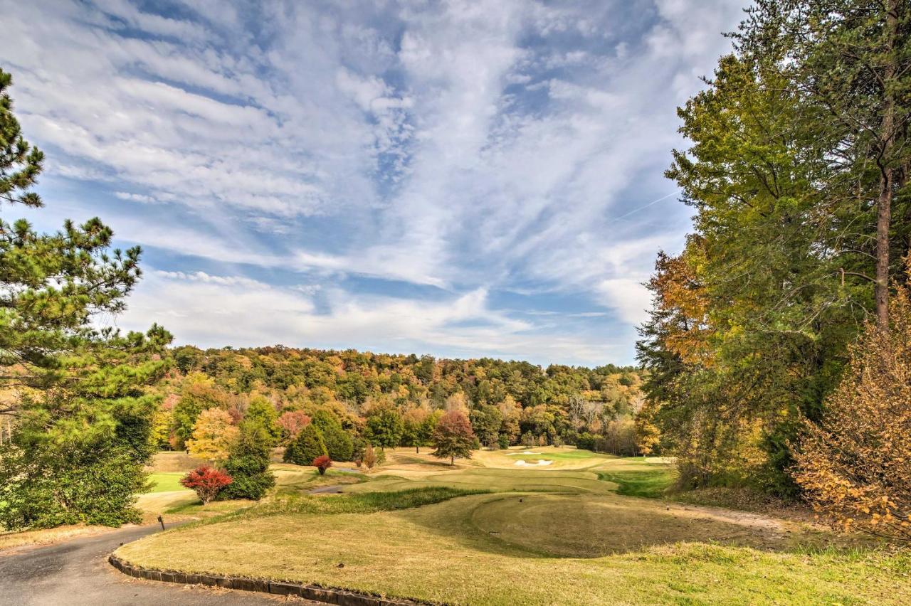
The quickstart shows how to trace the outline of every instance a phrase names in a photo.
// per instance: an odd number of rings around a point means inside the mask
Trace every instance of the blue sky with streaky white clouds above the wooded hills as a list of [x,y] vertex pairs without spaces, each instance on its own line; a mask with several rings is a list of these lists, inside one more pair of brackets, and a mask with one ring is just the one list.
[[738,0],[0,0],[52,230],[144,276],[99,324],[200,347],[635,358],[676,107]]

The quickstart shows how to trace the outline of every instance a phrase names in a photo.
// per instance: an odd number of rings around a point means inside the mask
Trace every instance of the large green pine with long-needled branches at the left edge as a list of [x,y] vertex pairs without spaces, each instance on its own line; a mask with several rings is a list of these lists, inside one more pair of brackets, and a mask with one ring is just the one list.
[[[0,204],[42,207],[30,191],[44,155],[29,146],[0,70]],[[134,507],[153,452],[157,399],[148,386],[171,337],[97,330],[140,276],[140,249],[111,249],[100,219],[39,234],[0,219],[0,525],[9,530],[138,521]],[[5,423],[8,425],[8,423]]]

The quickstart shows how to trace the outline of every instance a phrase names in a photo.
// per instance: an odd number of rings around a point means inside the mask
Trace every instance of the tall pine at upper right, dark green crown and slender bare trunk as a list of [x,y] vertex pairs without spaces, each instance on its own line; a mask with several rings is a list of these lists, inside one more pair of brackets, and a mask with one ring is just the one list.
[[873,283],[876,322],[886,328],[889,280],[900,274],[890,255],[893,203],[911,167],[911,7],[902,0],[762,0],[736,39],[744,52],[773,56],[768,66],[804,105],[824,109],[834,171],[873,211],[865,225],[875,267],[860,275]]

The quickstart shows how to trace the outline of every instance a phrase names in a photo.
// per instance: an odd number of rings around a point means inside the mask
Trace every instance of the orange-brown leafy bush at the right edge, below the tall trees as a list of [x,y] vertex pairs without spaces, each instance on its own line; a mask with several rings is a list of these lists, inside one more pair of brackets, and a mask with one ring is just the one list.
[[911,292],[891,327],[867,326],[820,426],[809,425],[795,480],[836,527],[911,540]]

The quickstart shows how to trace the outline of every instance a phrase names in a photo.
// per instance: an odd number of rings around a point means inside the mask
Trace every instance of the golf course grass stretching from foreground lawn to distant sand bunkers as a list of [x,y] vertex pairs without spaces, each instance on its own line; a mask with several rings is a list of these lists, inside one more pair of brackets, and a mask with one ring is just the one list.
[[[273,471],[275,494],[254,505],[143,495],[146,510],[199,521],[116,554],[151,569],[458,604],[898,604],[911,590],[911,559],[887,544],[670,500],[674,472],[660,458],[517,447],[450,466],[389,449],[369,471]],[[168,488],[170,475],[153,480]],[[331,485],[341,493],[312,494]]]

